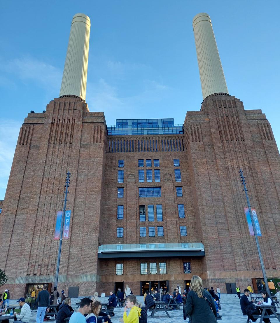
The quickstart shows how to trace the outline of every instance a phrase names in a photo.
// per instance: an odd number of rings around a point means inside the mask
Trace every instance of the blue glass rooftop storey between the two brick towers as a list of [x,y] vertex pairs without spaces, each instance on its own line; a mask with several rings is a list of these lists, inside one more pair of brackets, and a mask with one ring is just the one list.
[[183,125],[174,125],[174,119],[117,119],[116,126],[107,127],[108,136],[183,133]]

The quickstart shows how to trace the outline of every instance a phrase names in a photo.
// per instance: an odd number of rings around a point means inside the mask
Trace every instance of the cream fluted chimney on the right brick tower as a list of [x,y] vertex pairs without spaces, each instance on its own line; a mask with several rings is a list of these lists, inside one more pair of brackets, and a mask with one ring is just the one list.
[[203,99],[228,89],[210,16],[197,14],[192,20]]

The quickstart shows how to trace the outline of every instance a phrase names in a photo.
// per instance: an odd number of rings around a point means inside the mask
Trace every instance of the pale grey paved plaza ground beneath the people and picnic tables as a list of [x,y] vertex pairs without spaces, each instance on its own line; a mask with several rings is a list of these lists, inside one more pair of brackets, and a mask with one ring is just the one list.
[[[79,298],[72,298],[72,304],[76,304],[79,302]],[[105,302],[108,300],[109,297],[101,297],[101,301]],[[138,296],[138,300],[140,300],[143,303],[143,296]],[[10,305],[16,305],[16,301],[10,301]],[[235,297],[235,295],[226,295],[222,294],[221,295],[221,307],[222,309],[219,311],[220,315],[223,316],[222,320],[219,320],[218,322],[228,322],[228,323],[246,323],[247,317],[242,315],[241,309],[240,309],[240,303],[239,303],[239,298]],[[182,307],[181,307],[182,308]],[[113,323],[119,322],[119,318],[122,317],[123,313],[123,308],[122,307],[117,307],[115,309],[115,316],[111,318]],[[280,313],[280,309],[278,310]],[[168,311],[169,315],[171,318],[168,318],[165,314],[164,311],[159,311],[155,313],[155,316],[153,318],[150,318],[150,313],[148,312],[148,322],[149,323],[163,323],[163,322],[168,322],[168,323],[183,323],[183,322],[188,322],[189,320],[187,319],[186,321],[183,320],[183,311],[182,310],[173,310],[173,311]],[[270,319],[272,323],[278,322],[276,318],[271,318]],[[12,322],[12,320],[10,320]],[[36,322],[36,312],[33,311],[31,312],[31,320],[30,323],[35,323]],[[55,322],[55,320],[50,320],[51,322]],[[259,320],[257,321],[259,322]],[[204,322],[203,322],[204,323]],[[205,322],[207,323],[207,322]]]

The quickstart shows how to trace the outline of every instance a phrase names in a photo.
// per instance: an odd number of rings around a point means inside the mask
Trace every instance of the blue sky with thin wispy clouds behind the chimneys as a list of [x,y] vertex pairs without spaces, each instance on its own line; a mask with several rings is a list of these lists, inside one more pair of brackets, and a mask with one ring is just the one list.
[[104,111],[107,125],[136,118],[182,124],[187,111],[200,110],[192,18],[207,12],[229,93],[245,109],[262,109],[279,145],[279,10],[279,0],[2,2],[0,199],[24,118],[58,97],[79,12],[91,20],[86,101],[90,111]]

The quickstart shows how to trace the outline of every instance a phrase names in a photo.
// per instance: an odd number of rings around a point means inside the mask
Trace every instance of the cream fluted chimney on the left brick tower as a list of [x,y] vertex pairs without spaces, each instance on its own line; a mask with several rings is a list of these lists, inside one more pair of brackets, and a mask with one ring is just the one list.
[[76,14],[72,19],[59,97],[86,99],[90,19]]

